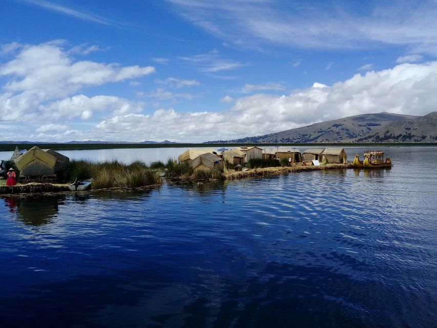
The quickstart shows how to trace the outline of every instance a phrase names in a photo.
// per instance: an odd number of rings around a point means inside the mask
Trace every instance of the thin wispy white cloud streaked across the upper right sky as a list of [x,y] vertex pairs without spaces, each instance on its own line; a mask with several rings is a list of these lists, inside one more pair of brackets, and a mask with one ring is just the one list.
[[234,44],[350,49],[383,43],[437,55],[434,0],[371,2],[367,13],[354,5],[335,3],[281,6],[274,1],[168,1],[184,19]]

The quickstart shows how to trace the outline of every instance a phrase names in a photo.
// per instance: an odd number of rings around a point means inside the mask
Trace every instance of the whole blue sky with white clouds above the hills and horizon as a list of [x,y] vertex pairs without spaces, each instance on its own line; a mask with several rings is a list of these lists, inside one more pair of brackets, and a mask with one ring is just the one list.
[[437,104],[437,1],[2,0],[0,140],[203,142]]

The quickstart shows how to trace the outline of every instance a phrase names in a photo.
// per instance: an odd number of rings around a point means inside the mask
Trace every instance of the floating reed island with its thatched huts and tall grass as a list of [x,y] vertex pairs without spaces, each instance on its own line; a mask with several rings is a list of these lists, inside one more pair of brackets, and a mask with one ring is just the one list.
[[235,180],[281,173],[352,168],[343,148],[307,149],[292,147],[237,147],[234,149],[189,149],[178,160],[142,161],[130,164],[118,160],[92,162],[69,160],[52,150],[33,147],[18,152],[8,162],[16,168],[16,186],[4,186],[0,194],[69,191],[72,181],[92,178],[91,190],[137,189],[169,180]]

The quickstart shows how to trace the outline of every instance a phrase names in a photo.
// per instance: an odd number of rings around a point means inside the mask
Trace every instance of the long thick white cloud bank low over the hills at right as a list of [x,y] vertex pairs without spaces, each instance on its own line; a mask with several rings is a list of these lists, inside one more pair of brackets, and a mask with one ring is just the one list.
[[117,115],[101,121],[96,131],[120,140],[126,139],[129,131],[142,139],[205,141],[278,132],[363,113],[425,115],[435,110],[436,84],[437,61],[402,64],[356,74],[332,86],[315,83],[289,95],[243,97],[220,113],[160,109],[153,115]]

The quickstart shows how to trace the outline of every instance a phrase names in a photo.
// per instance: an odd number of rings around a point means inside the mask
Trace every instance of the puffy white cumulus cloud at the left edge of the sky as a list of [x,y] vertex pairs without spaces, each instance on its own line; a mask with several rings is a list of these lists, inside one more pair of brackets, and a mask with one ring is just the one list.
[[[0,94],[0,120],[38,117],[35,109],[50,107],[48,103],[62,101],[60,99],[82,88],[139,78],[155,71],[151,66],[121,67],[74,60],[69,50],[61,48],[63,43],[60,40],[40,45],[13,44],[4,48],[17,53],[12,60],[0,65],[0,77],[8,78]],[[92,111],[80,115],[87,119]]]

